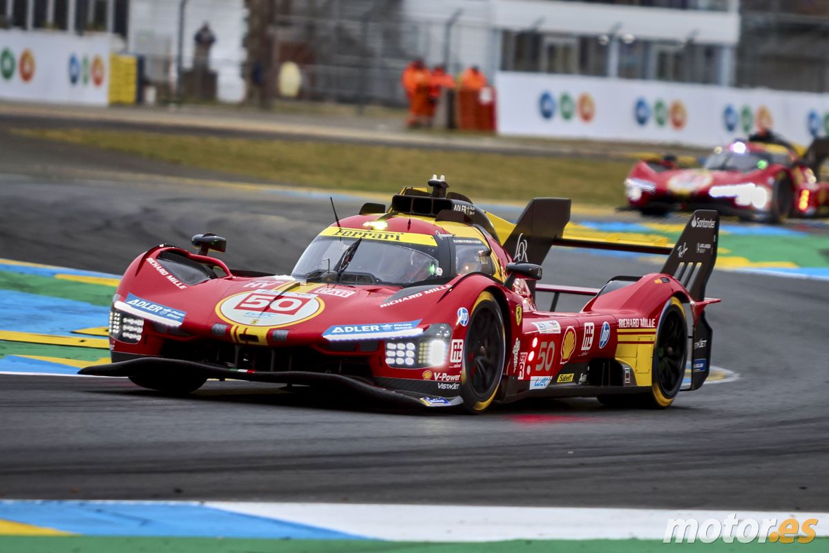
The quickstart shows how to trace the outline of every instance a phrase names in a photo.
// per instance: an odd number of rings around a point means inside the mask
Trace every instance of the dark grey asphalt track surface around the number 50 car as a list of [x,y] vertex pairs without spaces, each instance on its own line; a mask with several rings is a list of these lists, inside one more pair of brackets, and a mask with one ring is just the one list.
[[[68,166],[54,156],[71,148],[0,146],[8,259],[120,273],[149,246],[211,231],[228,238],[231,267],[283,272],[332,221],[326,201],[68,177],[35,161]],[[652,270],[554,250],[545,282]],[[585,399],[423,414],[247,383],[181,399],[121,380],[0,375],[0,497],[829,510],[827,283],[717,271],[708,293],[724,299],[710,308],[713,362],[739,379],[658,412]]]

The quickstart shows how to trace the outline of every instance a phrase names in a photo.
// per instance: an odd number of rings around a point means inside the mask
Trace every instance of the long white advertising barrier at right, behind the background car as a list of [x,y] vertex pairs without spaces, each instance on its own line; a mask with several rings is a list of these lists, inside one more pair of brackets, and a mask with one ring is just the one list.
[[763,128],[829,134],[829,95],[652,80],[499,72],[498,133],[712,147]]

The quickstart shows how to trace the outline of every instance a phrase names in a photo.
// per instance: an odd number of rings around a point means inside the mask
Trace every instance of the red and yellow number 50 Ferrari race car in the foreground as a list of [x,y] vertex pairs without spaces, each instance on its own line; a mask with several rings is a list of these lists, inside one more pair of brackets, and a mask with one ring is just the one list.
[[[314,239],[291,275],[230,269],[159,245],[128,267],[109,320],[112,363],[85,375],[188,393],[208,378],[342,386],[427,407],[486,410],[525,396],[671,405],[708,376],[703,310],[719,219],[696,211],[674,248],[562,238],[570,200],[536,198],[511,224],[446,192],[407,187]],[[536,284],[552,245],[668,255],[602,289]],[[549,311],[536,293],[554,294]],[[560,294],[579,313],[556,313]],[[686,378],[686,360],[691,377]]]

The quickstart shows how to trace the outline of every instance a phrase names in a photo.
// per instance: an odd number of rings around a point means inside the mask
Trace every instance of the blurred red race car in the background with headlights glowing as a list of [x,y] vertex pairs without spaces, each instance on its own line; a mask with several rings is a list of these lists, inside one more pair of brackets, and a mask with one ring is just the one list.
[[717,147],[702,168],[681,168],[676,158],[638,162],[625,179],[628,203],[644,215],[715,209],[744,221],[779,223],[829,208],[829,140],[817,139],[801,157],[773,133]]

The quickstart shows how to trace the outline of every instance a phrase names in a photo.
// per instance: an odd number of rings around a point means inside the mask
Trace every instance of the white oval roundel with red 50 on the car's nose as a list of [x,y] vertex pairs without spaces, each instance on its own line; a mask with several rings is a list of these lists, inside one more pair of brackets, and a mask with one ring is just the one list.
[[279,296],[261,292],[237,293],[219,305],[221,318],[251,327],[285,327],[316,317],[322,300],[309,293],[285,292]]

